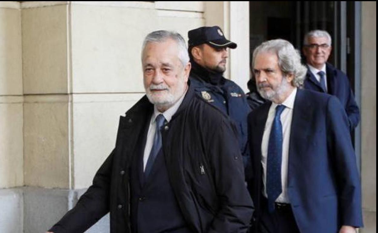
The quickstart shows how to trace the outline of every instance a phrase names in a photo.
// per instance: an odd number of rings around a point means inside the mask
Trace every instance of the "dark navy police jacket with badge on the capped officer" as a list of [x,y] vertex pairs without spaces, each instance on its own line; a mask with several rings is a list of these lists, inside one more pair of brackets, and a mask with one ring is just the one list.
[[249,159],[247,149],[247,116],[251,111],[243,90],[220,74],[210,73],[191,60],[190,80],[198,96],[228,115],[237,129],[240,152],[244,162]]

